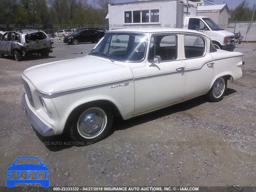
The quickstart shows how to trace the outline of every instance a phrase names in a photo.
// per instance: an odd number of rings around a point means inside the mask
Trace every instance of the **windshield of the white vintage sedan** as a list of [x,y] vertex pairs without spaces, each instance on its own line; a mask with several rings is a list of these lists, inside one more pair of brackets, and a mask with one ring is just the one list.
[[111,61],[139,62],[145,58],[147,38],[144,34],[108,33],[90,52],[90,55]]

